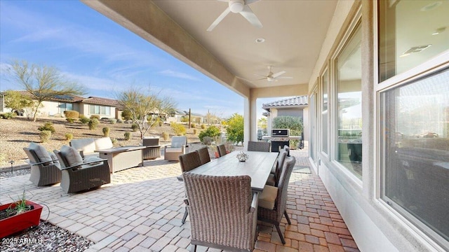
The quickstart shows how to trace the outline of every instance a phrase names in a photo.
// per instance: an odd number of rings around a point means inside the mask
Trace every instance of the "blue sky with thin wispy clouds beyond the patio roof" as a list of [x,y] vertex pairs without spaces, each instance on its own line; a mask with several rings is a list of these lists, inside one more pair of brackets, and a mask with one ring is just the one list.
[[[80,1],[0,0],[0,91],[15,59],[56,67],[87,87],[88,96],[116,98],[130,85],[170,95],[177,108],[227,118],[243,115],[243,97],[204,76]],[[263,99],[257,102],[261,117]]]

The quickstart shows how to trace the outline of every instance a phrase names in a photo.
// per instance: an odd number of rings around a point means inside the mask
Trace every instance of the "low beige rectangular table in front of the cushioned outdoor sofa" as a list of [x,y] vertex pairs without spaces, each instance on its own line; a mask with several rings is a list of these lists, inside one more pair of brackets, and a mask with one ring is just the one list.
[[109,172],[119,172],[131,167],[143,166],[142,150],[146,146],[124,146],[98,150],[100,158],[107,159]]

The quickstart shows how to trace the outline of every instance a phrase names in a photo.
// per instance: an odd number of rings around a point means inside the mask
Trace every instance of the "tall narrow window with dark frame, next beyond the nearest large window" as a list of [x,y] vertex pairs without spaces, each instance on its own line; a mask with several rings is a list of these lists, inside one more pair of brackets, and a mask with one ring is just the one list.
[[335,159],[359,179],[362,176],[361,25],[358,24],[336,61]]

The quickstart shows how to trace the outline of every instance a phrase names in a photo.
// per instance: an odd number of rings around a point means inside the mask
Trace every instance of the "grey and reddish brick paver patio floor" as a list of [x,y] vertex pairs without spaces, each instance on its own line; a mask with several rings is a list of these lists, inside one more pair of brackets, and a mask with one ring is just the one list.
[[[306,152],[291,151],[307,166]],[[85,193],[65,194],[59,184],[36,187],[29,175],[0,181],[0,202],[11,202],[25,189],[32,200],[50,208],[48,221],[95,242],[87,251],[188,251],[190,223],[182,225],[185,197],[178,162],[145,161],[145,167],[116,172],[112,183]],[[288,187],[282,245],[276,228],[260,223],[255,251],[358,251],[321,179],[294,171]],[[48,211],[44,207],[41,218]],[[219,251],[199,247],[197,251]]]

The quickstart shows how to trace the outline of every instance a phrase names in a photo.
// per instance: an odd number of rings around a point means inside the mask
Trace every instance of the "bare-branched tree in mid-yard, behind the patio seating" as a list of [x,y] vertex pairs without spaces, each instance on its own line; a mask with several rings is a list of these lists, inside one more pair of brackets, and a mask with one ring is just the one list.
[[165,116],[175,109],[175,102],[170,97],[159,97],[148,90],[146,94],[138,87],[129,87],[117,95],[117,100],[130,112],[133,123],[139,126],[140,138],[158,122],[159,116]]

